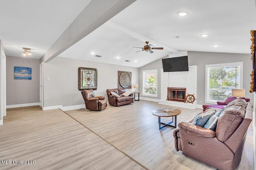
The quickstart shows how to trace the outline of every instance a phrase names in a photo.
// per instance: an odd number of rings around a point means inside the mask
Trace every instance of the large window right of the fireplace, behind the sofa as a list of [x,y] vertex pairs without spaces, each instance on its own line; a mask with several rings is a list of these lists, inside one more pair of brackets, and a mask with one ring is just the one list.
[[243,62],[206,65],[206,102],[224,101],[243,87]]

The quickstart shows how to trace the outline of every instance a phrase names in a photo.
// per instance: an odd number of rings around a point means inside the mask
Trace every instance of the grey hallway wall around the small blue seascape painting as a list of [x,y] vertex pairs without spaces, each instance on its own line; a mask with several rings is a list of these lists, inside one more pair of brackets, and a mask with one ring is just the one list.
[[[14,66],[31,67],[31,80],[14,80]],[[6,56],[6,105],[8,108],[38,103],[39,78],[39,59]]]

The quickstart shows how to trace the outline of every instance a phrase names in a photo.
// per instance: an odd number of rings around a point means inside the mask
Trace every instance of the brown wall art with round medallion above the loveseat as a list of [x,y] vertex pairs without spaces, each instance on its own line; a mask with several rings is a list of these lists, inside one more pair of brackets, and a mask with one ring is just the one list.
[[118,88],[132,88],[132,72],[118,71]]

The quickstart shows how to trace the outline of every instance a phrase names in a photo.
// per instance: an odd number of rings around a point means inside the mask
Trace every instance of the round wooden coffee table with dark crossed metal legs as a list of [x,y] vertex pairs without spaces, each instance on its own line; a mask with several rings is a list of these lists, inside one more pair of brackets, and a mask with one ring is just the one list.
[[[158,116],[159,130],[166,126],[176,128],[177,127],[177,115],[179,115],[180,113],[181,113],[180,109],[174,109],[171,107],[162,107],[162,108],[155,109],[154,111],[152,111],[153,115]],[[162,123],[161,117],[172,117],[172,121],[169,123]],[[175,118],[174,126],[170,125],[171,123],[173,123],[173,117]],[[161,127],[161,124],[163,124],[164,126]]]

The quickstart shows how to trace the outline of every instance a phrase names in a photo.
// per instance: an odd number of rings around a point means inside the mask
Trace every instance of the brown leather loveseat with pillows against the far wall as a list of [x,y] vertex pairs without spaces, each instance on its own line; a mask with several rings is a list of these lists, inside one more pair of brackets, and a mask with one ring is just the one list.
[[[134,102],[133,93],[131,93],[129,96],[122,95],[124,92],[126,92],[125,88],[107,89],[106,92],[108,96],[108,104],[112,106],[122,106],[125,104],[131,104]],[[118,94],[120,97],[116,97],[112,95],[111,92]]]

